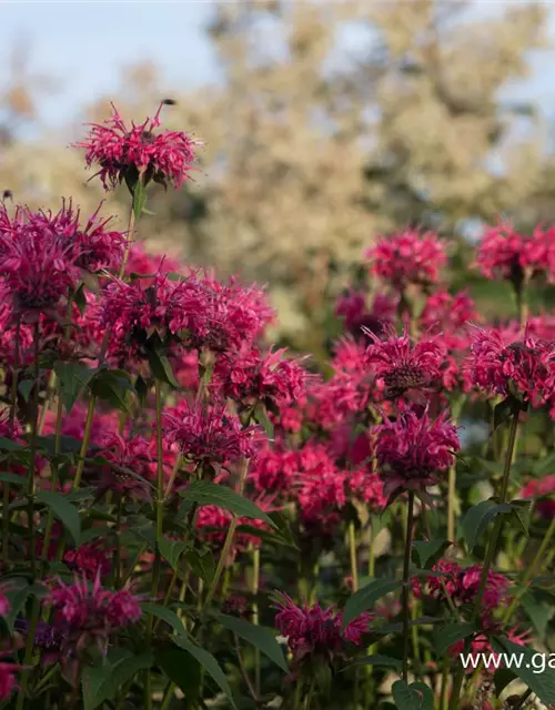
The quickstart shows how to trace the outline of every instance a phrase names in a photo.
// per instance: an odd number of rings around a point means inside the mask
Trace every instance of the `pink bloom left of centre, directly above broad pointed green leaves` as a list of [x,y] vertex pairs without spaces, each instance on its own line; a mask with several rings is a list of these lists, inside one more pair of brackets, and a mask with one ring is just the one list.
[[194,462],[233,462],[251,458],[260,436],[258,427],[243,428],[224,405],[183,402],[163,416],[167,442]]

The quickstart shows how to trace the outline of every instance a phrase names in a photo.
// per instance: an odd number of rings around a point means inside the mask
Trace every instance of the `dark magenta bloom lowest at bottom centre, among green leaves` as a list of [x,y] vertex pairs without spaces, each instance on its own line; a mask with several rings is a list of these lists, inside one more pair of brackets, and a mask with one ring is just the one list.
[[370,613],[361,613],[342,629],[341,611],[322,609],[319,604],[299,607],[286,594],[278,595],[278,609],[275,626],[287,638],[295,663],[314,656],[330,663],[343,658],[350,645],[363,643],[372,618]]

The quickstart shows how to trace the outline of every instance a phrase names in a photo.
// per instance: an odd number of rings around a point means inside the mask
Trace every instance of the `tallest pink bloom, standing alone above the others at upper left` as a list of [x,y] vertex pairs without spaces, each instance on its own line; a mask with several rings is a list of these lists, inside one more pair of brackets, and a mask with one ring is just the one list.
[[143,184],[154,180],[179,187],[190,176],[194,151],[201,141],[181,131],[155,131],[164,103],[168,102],[162,101],[153,119],[139,125],[131,123],[131,126],[125,125],[112,104],[112,115],[103,124],[91,124],[87,140],[74,144],[87,151],[89,168],[94,163],[100,166],[97,174],[104,190],[113,190],[125,179],[133,184],[139,175],[143,176]]

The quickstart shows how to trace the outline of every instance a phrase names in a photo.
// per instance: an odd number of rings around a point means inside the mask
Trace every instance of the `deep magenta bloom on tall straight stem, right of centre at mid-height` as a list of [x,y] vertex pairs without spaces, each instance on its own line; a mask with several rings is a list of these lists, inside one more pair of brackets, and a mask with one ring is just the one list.
[[401,412],[394,422],[374,426],[377,471],[386,496],[403,490],[423,490],[437,483],[461,448],[456,427],[447,414],[430,418],[413,409]]

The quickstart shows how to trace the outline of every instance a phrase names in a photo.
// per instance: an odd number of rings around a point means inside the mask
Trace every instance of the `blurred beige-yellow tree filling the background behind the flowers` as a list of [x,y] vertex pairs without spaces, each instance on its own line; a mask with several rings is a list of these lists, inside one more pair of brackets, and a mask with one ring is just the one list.
[[[285,339],[322,341],[330,288],[346,283],[377,232],[411,224],[456,236],[500,214],[554,219],[547,126],[536,106],[504,98],[546,44],[545,4],[492,3],[493,13],[464,0],[212,4],[220,80],[173,90],[179,103],[165,113],[206,142],[201,170],[141,236],[268,283]],[[32,113],[31,83],[20,72],[4,91],[16,115]],[[118,108],[152,114],[161,83],[149,63],[125,69]],[[102,120],[112,98],[84,114]],[[74,194],[89,210],[100,199],[81,156],[60,159],[51,138],[16,131],[2,143],[0,180],[18,201]],[[125,196],[113,200],[107,209],[124,220]]]

